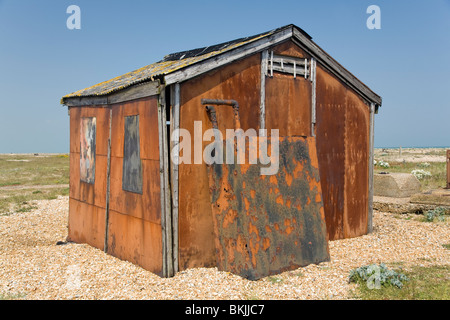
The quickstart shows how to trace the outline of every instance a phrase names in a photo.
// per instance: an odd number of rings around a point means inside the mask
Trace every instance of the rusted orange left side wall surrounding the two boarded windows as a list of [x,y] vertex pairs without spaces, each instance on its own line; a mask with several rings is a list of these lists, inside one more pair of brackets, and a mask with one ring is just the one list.
[[[111,195],[108,253],[160,274],[161,201],[157,99],[150,97],[112,105]],[[122,190],[125,117],[139,115],[142,195]],[[95,182],[80,179],[82,118],[96,118]],[[69,236],[75,242],[103,249],[110,109],[101,106],[71,109]],[[136,126],[137,127],[137,126]],[[78,146],[77,146],[78,145]],[[112,247],[111,247],[112,245]]]

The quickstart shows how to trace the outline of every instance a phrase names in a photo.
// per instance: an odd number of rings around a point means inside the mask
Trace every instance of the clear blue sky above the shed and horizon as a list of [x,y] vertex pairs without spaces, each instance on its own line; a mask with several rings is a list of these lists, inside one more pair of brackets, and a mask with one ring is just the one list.
[[382,96],[376,147],[450,146],[450,0],[0,0],[0,153],[68,152],[67,93],[290,23]]

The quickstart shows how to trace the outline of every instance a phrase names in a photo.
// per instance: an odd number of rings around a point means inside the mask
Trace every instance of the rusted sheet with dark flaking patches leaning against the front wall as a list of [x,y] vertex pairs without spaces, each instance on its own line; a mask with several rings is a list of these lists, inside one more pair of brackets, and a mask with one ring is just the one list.
[[260,163],[236,164],[236,154],[234,164],[209,166],[219,270],[256,280],[329,260],[315,139],[279,143],[280,169],[271,176]]

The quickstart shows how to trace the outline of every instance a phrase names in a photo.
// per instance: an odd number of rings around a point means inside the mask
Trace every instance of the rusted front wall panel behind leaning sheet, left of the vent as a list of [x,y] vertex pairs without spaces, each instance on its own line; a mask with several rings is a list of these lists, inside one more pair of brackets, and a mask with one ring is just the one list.
[[[211,129],[202,98],[239,97],[242,129],[259,129],[260,54],[224,66],[180,85],[180,128],[193,135],[194,121],[202,122],[202,132]],[[231,109],[230,109],[231,110]],[[219,129],[233,128],[233,112],[217,110]],[[194,150],[192,139],[191,150]],[[203,147],[207,145],[204,143]],[[203,149],[202,149],[203,150]],[[180,164],[179,172],[179,270],[216,265],[214,231],[206,164]]]

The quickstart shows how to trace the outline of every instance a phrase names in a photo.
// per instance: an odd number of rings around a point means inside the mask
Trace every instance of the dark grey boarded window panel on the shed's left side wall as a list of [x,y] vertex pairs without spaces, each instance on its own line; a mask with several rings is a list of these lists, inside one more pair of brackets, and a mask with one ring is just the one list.
[[142,194],[139,115],[125,117],[122,190]]

